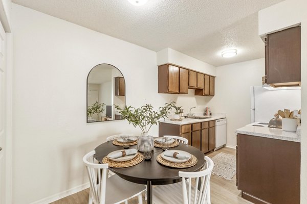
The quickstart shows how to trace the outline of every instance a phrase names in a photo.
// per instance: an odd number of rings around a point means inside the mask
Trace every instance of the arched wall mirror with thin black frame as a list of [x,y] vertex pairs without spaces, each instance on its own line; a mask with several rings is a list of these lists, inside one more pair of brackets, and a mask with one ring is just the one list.
[[87,75],[86,121],[121,120],[113,105],[125,106],[125,79],[118,68],[99,64]]

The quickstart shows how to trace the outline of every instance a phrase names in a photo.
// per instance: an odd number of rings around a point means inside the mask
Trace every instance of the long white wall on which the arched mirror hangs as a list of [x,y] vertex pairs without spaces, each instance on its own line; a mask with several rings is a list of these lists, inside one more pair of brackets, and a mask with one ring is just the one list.
[[[119,68],[126,104],[204,109],[212,97],[158,94],[156,53],[13,4],[13,201],[50,202],[87,183],[82,157],[109,135],[140,133],[126,121],[86,123],[86,77],[101,63]],[[158,126],[149,132],[158,134]],[[62,194],[64,195],[64,194]],[[48,199],[48,197],[50,199]]]

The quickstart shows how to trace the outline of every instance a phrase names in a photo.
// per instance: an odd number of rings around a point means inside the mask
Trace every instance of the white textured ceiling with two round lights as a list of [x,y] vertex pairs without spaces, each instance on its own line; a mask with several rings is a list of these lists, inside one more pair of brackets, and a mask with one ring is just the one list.
[[[257,12],[282,0],[13,0],[13,3],[159,51],[166,47],[215,66],[264,57]],[[222,58],[226,48],[238,55]]]

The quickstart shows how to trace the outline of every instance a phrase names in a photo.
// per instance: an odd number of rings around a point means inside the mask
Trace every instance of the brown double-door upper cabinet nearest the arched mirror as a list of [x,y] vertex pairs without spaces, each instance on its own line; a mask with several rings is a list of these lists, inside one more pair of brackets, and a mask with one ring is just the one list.
[[173,65],[158,67],[158,93],[188,93],[189,71]]

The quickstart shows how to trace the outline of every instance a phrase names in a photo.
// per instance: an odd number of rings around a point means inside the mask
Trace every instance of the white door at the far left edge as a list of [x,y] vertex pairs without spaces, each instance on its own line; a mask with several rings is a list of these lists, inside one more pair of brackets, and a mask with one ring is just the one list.
[[5,31],[0,23],[0,203],[5,203],[6,63]]

